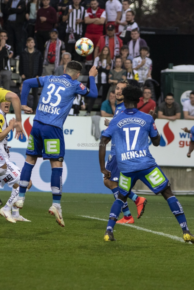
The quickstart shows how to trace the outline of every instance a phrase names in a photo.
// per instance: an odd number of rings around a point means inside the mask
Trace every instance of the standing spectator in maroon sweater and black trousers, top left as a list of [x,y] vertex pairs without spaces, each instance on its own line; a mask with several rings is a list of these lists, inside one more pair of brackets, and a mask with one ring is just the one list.
[[44,54],[44,45],[49,40],[49,32],[53,25],[57,23],[56,10],[50,6],[50,0],[42,0],[43,7],[38,9],[36,23],[35,23],[35,36],[37,40],[38,50]]

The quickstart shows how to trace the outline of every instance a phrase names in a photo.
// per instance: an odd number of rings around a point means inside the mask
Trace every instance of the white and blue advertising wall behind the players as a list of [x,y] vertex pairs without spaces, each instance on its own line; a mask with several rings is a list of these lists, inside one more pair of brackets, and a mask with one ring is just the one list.
[[[13,114],[7,114],[7,122]],[[14,139],[14,133],[8,135],[10,160],[22,168],[25,161],[25,152],[28,137],[32,128],[34,115],[22,115],[22,123],[26,137]],[[108,118],[111,119],[111,118]],[[160,146],[154,147],[151,142],[149,149],[156,162],[167,174],[173,190],[193,190],[194,154],[187,158],[190,143],[189,134],[181,128],[190,129],[192,120],[156,119],[156,127],[161,134]],[[100,118],[100,131],[105,130],[104,118]],[[63,163],[63,192],[69,193],[111,193],[103,184],[103,175],[98,162],[99,141],[91,135],[91,118],[68,116],[63,126],[65,139],[65,158]],[[86,144],[86,145],[84,145]],[[107,147],[106,160],[111,146]],[[188,170],[189,168],[189,170]],[[50,191],[51,168],[48,160],[38,158],[32,171],[32,191]],[[148,190],[142,182],[135,185],[137,190]],[[3,190],[10,190],[5,185]]]

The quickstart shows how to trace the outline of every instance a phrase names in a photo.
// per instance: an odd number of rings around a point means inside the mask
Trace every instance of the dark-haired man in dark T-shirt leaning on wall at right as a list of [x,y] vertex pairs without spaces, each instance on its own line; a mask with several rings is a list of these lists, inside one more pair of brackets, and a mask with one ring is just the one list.
[[174,95],[172,93],[168,93],[164,102],[159,105],[158,118],[172,121],[181,119],[181,108],[179,103],[174,101]]

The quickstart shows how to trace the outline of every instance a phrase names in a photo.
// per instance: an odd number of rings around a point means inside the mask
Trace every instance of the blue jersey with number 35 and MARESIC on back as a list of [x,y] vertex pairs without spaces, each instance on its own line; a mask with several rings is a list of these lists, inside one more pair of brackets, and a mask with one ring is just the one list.
[[43,86],[34,120],[63,129],[76,94],[89,93],[82,83],[70,75],[39,77]]

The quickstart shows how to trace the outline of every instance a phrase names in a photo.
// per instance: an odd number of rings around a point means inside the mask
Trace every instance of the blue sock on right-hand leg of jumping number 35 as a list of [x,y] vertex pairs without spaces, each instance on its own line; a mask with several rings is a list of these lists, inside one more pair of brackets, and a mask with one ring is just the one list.
[[60,204],[62,194],[62,167],[52,168],[51,174],[51,190],[52,190],[52,202]]

